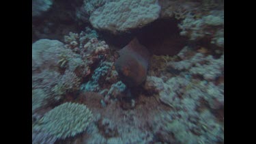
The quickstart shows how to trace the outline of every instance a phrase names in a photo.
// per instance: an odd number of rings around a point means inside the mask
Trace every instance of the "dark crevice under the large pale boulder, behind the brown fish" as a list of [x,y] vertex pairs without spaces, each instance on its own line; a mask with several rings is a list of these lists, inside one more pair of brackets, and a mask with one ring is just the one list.
[[179,21],[174,18],[158,19],[130,33],[113,35],[109,32],[100,31],[100,34],[107,44],[119,48],[123,48],[132,38],[137,37],[139,42],[154,55],[176,55],[187,43],[186,38],[180,36],[178,23]]

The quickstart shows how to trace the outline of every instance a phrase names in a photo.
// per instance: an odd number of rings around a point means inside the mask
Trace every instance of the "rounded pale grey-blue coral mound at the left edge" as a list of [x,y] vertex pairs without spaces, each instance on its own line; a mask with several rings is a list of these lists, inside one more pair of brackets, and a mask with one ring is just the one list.
[[44,89],[52,97],[77,89],[81,81],[75,71],[86,68],[83,65],[81,57],[61,42],[39,40],[32,46],[32,88]]

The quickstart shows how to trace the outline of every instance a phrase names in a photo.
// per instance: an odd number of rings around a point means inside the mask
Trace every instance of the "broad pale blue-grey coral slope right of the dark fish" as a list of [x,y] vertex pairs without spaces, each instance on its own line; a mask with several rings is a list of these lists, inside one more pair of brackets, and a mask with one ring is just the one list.
[[167,63],[179,71],[175,77],[163,81],[147,76],[144,89],[175,110],[156,116],[156,139],[165,143],[223,143],[223,115],[216,115],[216,111],[223,111],[224,106],[224,84],[218,81],[224,74],[224,56],[214,59],[194,53],[186,57],[188,53],[185,47],[178,54],[182,60]]

